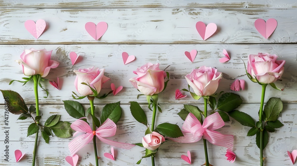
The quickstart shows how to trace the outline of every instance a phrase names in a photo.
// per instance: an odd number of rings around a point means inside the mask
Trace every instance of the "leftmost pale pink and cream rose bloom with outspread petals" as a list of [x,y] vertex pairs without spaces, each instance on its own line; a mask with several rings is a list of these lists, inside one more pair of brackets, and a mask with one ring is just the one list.
[[16,60],[23,67],[23,73],[26,76],[41,75],[45,77],[48,75],[50,68],[56,68],[59,66],[59,62],[50,60],[50,55],[52,51],[35,50],[30,48],[29,50],[24,50],[20,55],[19,60]]

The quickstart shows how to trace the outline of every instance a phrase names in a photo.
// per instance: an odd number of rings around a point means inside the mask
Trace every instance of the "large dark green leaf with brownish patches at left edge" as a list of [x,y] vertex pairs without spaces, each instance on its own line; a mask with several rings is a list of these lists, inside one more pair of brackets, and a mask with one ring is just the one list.
[[[29,109],[24,99],[15,91],[12,90],[0,90],[4,99],[8,100],[8,111],[12,114],[24,114],[29,113]],[[7,99],[8,97],[8,99]]]

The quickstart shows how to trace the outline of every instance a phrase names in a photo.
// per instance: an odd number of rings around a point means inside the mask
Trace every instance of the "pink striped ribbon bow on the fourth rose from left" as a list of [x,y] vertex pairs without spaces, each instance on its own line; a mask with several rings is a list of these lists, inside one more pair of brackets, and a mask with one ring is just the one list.
[[184,136],[169,139],[175,142],[193,143],[199,141],[203,137],[214,145],[233,149],[233,135],[224,135],[214,131],[224,125],[225,123],[218,112],[207,116],[203,125],[201,125],[199,120],[192,113],[189,113],[182,127]]

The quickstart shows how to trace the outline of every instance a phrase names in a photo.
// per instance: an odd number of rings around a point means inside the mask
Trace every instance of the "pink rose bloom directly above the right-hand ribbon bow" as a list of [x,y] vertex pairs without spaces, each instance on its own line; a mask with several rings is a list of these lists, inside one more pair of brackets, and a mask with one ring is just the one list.
[[217,91],[222,73],[216,68],[201,66],[185,76],[197,96],[209,96]]

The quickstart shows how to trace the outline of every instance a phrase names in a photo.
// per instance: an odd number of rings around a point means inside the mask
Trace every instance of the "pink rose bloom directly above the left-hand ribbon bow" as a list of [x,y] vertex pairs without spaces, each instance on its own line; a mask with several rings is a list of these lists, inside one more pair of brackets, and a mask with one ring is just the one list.
[[[102,84],[110,79],[104,76],[104,71],[104,68],[99,69],[94,67],[74,70],[73,72],[76,73],[74,85],[77,92],[83,96],[94,95],[94,92],[90,89],[90,87],[92,87],[97,90],[97,93],[99,93],[102,88]],[[81,84],[82,82],[89,84],[90,87]]]

